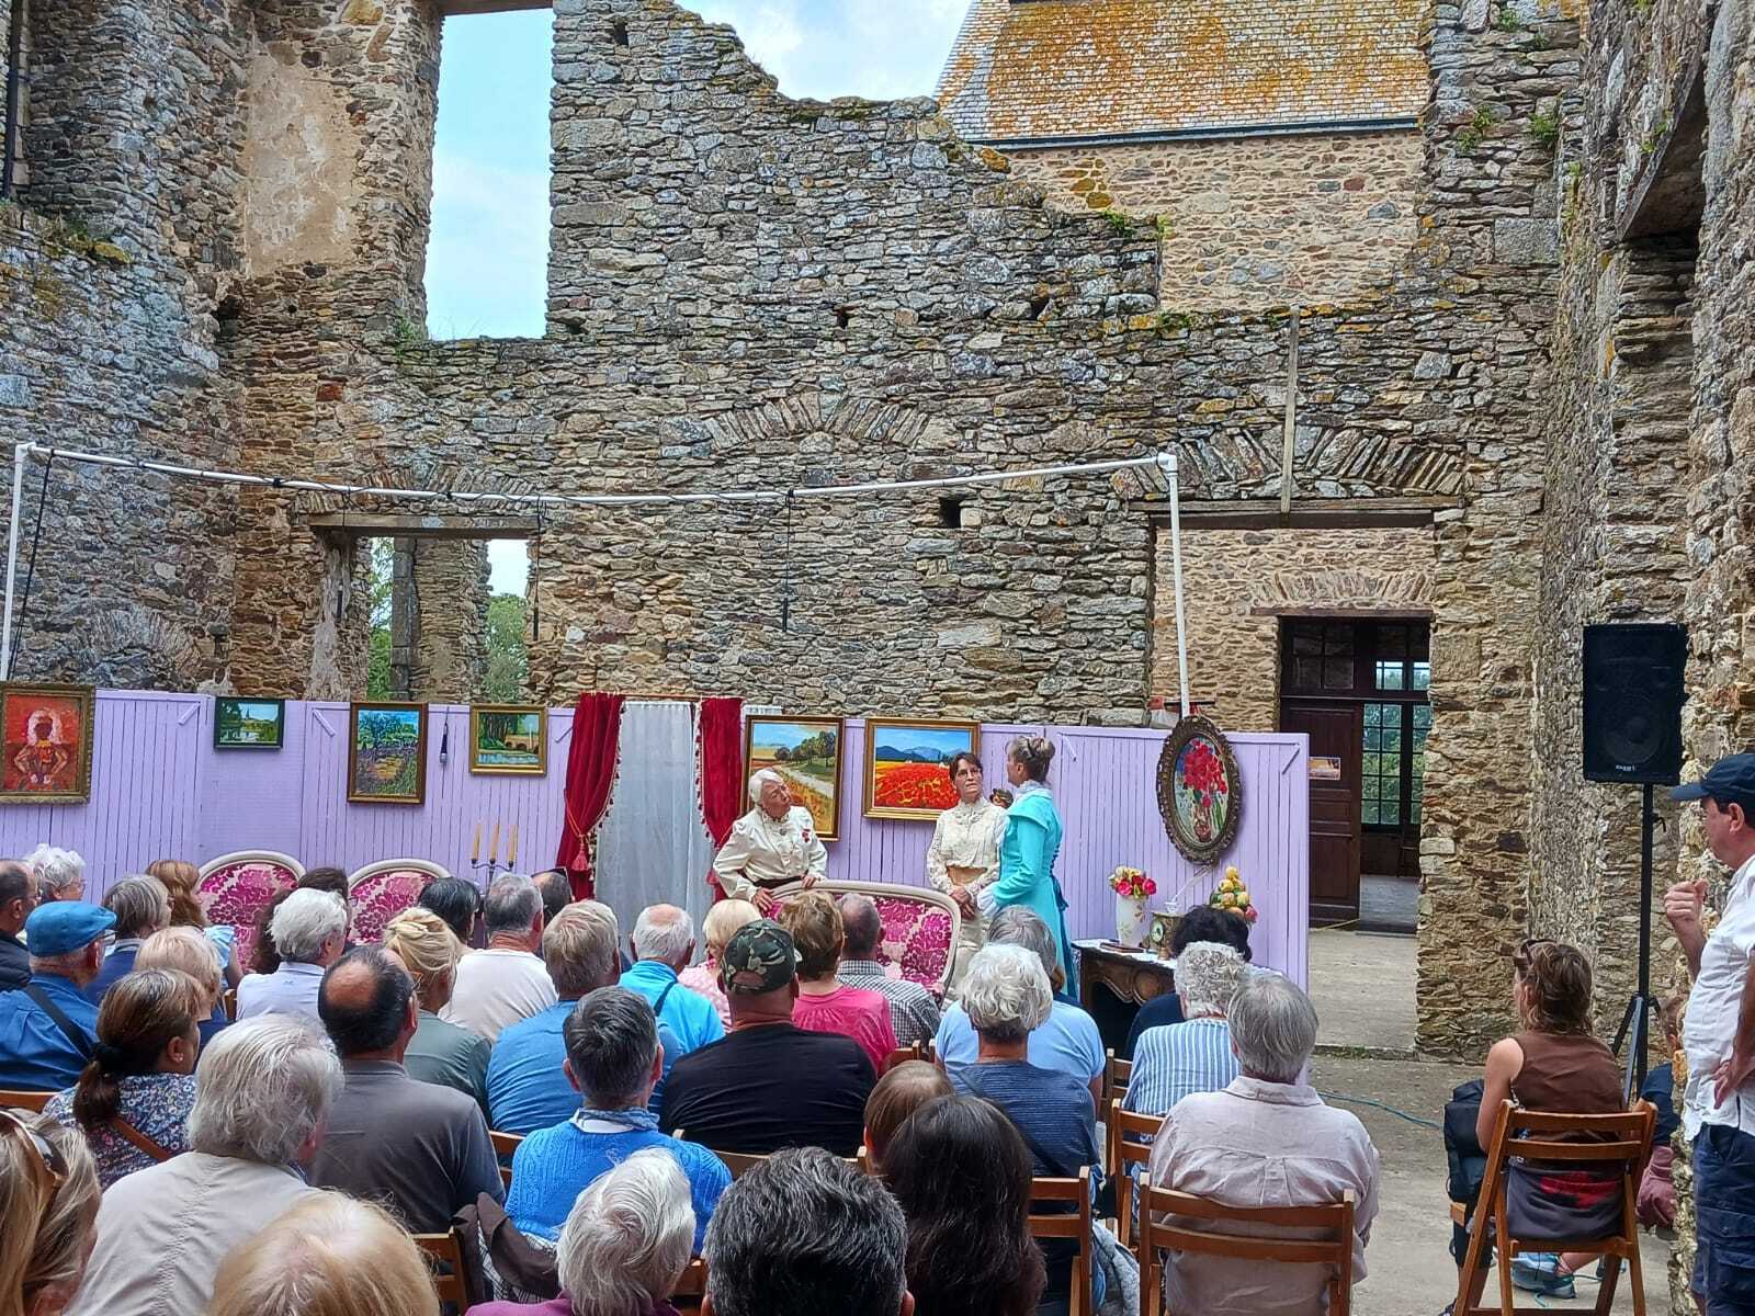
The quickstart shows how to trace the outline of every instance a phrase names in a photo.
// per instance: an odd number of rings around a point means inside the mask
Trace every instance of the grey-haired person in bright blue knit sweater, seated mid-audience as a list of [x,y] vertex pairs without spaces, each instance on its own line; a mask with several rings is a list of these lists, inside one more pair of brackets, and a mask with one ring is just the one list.
[[697,1227],[695,1246],[732,1181],[725,1163],[702,1146],[658,1132],[646,1102],[663,1056],[651,1005],[635,991],[604,986],[567,1018],[567,1081],[584,1095],[574,1114],[539,1128],[512,1155],[512,1190],[505,1214],[535,1239],[560,1237],[579,1191],[637,1151],[656,1148],[688,1176]]

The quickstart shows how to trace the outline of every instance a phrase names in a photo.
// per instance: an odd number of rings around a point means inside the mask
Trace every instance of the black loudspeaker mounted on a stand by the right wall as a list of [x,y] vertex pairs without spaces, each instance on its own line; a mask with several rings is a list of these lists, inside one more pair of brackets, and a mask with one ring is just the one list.
[[1687,662],[1681,626],[1585,626],[1585,781],[1680,781]]

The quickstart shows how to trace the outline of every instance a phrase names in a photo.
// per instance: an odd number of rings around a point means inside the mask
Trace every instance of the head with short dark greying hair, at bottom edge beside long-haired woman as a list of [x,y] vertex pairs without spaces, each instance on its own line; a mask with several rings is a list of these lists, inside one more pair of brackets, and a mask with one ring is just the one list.
[[720,1198],[700,1311],[913,1316],[906,1251],[902,1209],[883,1184],[821,1148],[781,1151]]

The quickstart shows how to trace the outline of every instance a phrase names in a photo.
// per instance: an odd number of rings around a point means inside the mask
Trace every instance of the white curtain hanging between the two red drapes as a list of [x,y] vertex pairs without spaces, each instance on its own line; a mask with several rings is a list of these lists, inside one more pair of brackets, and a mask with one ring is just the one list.
[[597,898],[616,911],[623,949],[641,911],[656,904],[683,905],[698,935],[713,863],[698,800],[695,707],[628,700],[616,788],[597,833]]

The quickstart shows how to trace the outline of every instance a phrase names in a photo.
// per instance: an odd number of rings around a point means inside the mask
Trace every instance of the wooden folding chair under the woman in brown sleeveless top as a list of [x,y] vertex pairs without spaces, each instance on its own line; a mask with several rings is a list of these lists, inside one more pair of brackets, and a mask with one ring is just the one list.
[[[1457,1277],[1455,1316],[1525,1316],[1548,1307],[1516,1305],[1511,1286],[1511,1260],[1518,1253],[1599,1253],[1602,1256],[1602,1283],[1597,1288],[1595,1312],[1609,1311],[1615,1302],[1615,1284],[1627,1262],[1627,1279],[1632,1286],[1634,1316],[1644,1316],[1644,1274],[1639,1269],[1639,1221],[1634,1205],[1639,1195],[1639,1176],[1651,1155],[1651,1134],[1657,1128],[1657,1111],[1651,1102],[1636,1102],[1630,1111],[1615,1114],[1539,1114],[1511,1102],[1499,1104],[1494,1116],[1492,1146],[1486,1151],[1486,1176],[1476,1197],[1474,1221],[1467,1219],[1467,1205],[1450,1204],[1450,1216],[1458,1225],[1469,1225],[1469,1249],[1464,1253],[1462,1272]],[[1511,1234],[1506,1214],[1506,1184],[1511,1177],[1511,1158],[1569,1170],[1601,1170],[1615,1176],[1622,1191],[1622,1225],[1616,1234],[1599,1239],[1518,1239]],[[1499,1249],[1499,1302],[1481,1305],[1486,1291],[1488,1248]]]

